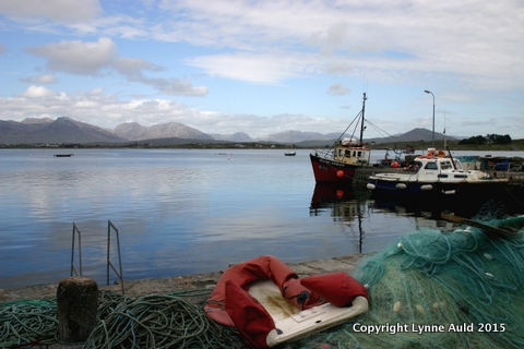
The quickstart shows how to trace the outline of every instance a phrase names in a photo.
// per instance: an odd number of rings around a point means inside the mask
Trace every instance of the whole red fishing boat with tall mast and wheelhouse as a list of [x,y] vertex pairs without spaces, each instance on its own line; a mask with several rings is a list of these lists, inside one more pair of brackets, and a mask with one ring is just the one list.
[[[371,152],[362,141],[366,99],[366,93],[364,93],[362,109],[329,151],[314,151],[310,154],[317,183],[349,184],[353,182],[356,169],[372,166],[370,164]],[[349,127],[357,122],[360,122],[359,141],[344,137]]]

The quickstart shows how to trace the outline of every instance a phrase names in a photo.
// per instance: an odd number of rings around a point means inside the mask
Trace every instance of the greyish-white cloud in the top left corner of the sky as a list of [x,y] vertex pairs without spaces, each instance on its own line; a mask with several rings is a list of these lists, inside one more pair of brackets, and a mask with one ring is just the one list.
[[57,22],[79,22],[102,12],[98,0],[2,0],[0,13],[15,19],[47,17]]

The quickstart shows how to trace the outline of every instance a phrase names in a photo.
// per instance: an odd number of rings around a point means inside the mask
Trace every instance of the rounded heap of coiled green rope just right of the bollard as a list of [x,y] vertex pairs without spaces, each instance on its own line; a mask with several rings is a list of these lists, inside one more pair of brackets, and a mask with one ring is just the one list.
[[153,294],[121,303],[84,348],[231,348],[228,334],[179,297]]

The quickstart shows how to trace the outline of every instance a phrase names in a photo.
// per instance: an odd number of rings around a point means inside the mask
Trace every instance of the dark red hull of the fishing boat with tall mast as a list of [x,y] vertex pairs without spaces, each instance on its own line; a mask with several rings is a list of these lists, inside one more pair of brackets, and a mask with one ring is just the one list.
[[361,166],[344,164],[310,154],[317,183],[353,183],[355,170]]

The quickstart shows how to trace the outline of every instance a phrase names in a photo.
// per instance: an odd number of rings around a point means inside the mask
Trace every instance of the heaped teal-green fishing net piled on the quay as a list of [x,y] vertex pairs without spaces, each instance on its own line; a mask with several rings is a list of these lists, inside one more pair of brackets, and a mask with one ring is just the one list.
[[[521,229],[524,216],[474,217]],[[478,228],[407,233],[362,261],[367,313],[291,348],[523,348],[524,229],[511,238]]]

